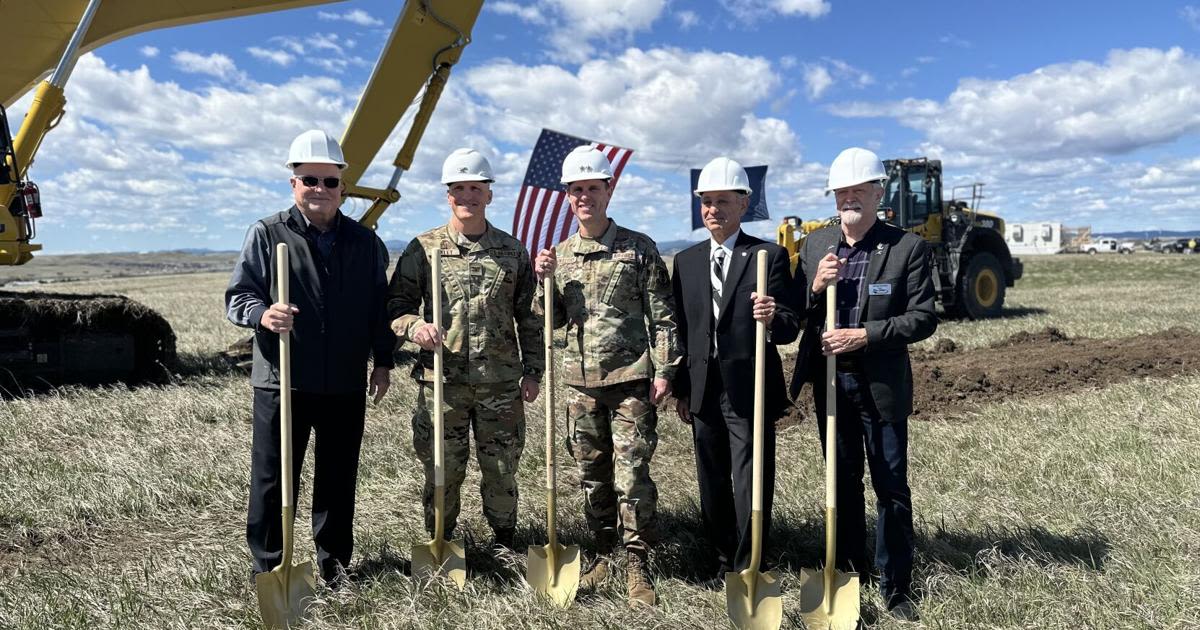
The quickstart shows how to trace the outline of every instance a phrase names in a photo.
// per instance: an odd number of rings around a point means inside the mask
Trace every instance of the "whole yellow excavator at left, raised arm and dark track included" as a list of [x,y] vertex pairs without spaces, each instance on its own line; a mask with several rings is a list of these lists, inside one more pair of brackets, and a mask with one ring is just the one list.
[[[88,50],[154,29],[233,18],[341,0],[22,0],[0,1],[0,265],[20,265],[42,246],[42,216],[30,167],[64,115],[64,86]],[[374,228],[400,199],[396,186],[437,104],[450,68],[470,42],[482,0],[404,2],[367,86],[342,134],[349,166],[347,196],[370,205],[359,220]],[[53,71],[53,73],[52,73]],[[16,136],[5,107],[43,76]],[[422,91],[424,90],[424,91]],[[408,103],[416,106],[403,146],[383,188],[359,180],[395,130]],[[282,142],[282,140],[281,140]],[[47,211],[53,211],[48,209]],[[38,383],[162,380],[175,361],[175,336],[157,313],[119,295],[85,296],[0,292],[0,366],[5,388]]]

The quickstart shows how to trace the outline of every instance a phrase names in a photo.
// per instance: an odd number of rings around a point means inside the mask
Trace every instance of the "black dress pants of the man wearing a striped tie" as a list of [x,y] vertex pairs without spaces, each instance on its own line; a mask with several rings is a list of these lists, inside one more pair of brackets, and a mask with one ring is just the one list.
[[[733,412],[715,359],[709,360],[704,401],[692,419],[700,511],[721,570],[750,566],[750,511],[754,490],[754,418]],[[775,494],[775,419],[763,422],[762,548],[770,533]],[[758,566],[763,569],[762,563]]]

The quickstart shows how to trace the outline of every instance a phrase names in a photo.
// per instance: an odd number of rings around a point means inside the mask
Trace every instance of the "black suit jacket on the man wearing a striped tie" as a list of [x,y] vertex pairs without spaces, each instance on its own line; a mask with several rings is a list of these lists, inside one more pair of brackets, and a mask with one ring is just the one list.
[[[716,323],[718,360],[730,403],[743,418],[754,416],[755,319],[750,294],[757,290],[756,259],[760,250],[768,253],[767,294],[775,298],[775,317],[767,342],[767,383],[764,410],[768,418],[784,413],[790,404],[784,384],[782,364],[776,343],[791,343],[800,332],[800,318],[792,293],[792,274],[787,252],[780,246],[740,233],[733,245],[725,286],[721,289],[721,318]],[[671,281],[674,288],[676,317],[682,368],[672,384],[676,397],[690,396],[691,413],[698,413],[704,401],[708,361],[713,336],[713,284],[709,240],[696,244],[674,257]]]

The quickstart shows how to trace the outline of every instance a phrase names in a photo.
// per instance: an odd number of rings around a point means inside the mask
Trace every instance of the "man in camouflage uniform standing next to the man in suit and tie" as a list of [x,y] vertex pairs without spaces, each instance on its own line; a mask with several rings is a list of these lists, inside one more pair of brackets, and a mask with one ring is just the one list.
[[[580,229],[538,254],[539,277],[554,276],[554,328],[564,329],[563,382],[568,446],[580,467],[588,529],[598,558],[580,584],[607,576],[605,558],[624,542],[631,605],[655,604],[647,568],[658,488],[650,457],[656,404],[671,392],[679,364],[671,278],[654,241],[607,215],[612,167],[581,146],[563,162]],[[539,284],[539,293],[541,286]],[[535,310],[541,300],[534,302]]]

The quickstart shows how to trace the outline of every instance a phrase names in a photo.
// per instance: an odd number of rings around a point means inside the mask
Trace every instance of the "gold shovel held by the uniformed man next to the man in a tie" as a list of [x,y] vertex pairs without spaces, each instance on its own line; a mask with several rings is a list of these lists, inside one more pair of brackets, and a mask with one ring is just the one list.
[[546,398],[546,533],[550,542],[546,546],[529,546],[529,559],[526,563],[526,581],[538,593],[548,595],[558,606],[566,608],[575,600],[580,587],[580,547],[558,544],[554,511],[557,506],[556,466],[554,466],[554,278],[542,280],[546,294],[546,374],[542,379]]

